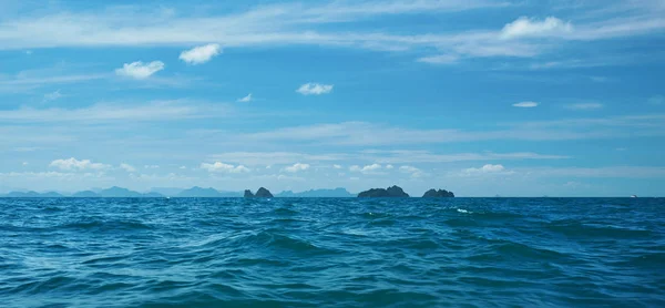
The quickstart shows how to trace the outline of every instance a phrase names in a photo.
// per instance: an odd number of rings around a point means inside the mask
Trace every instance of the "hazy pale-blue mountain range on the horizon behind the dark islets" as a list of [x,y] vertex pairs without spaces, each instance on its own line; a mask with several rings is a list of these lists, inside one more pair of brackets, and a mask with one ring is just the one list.
[[[152,188],[149,193],[139,193],[127,188],[113,186],[106,189],[82,191],[73,194],[61,194],[55,192],[38,193],[38,192],[10,192],[0,197],[13,198],[163,198],[163,197],[183,197],[183,198],[224,198],[224,197],[242,197],[243,192],[224,192],[208,187],[203,188],[194,186],[188,189],[183,188]],[[355,197],[345,188],[335,189],[310,189],[301,193],[285,191],[276,194],[275,197],[283,198],[325,198],[325,197]]]

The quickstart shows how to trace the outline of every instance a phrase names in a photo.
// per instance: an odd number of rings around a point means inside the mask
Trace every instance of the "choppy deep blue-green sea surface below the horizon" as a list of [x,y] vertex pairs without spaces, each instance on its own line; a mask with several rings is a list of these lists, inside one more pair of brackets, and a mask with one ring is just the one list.
[[0,199],[0,307],[505,306],[665,307],[665,199]]

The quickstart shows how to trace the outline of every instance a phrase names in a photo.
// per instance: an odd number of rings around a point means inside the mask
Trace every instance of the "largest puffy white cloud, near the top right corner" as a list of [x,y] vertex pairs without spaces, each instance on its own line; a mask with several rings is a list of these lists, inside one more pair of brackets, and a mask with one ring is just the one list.
[[573,25],[570,22],[564,22],[555,17],[549,17],[543,21],[521,17],[503,27],[501,38],[546,37],[572,31]]

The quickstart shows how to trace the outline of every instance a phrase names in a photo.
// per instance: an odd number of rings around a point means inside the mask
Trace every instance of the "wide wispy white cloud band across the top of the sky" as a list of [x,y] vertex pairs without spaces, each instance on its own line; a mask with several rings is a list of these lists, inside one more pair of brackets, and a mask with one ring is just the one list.
[[[320,27],[361,22],[369,18],[500,9],[515,4],[524,6],[512,1],[419,0],[265,4],[246,11],[205,16],[186,12],[174,14],[173,10],[147,7],[111,7],[100,11],[57,11],[48,14],[35,11],[0,22],[0,45],[4,49],[37,49],[207,44],[208,49],[215,50],[209,42],[224,42],[229,48],[310,44],[390,52],[417,51],[419,55],[416,59],[441,64],[451,63],[457,57],[535,57],[544,51],[561,49],[565,41],[626,38],[665,29],[665,20],[658,14],[662,9],[630,10],[622,18],[616,18],[615,13],[602,13],[594,19],[574,20],[574,27],[573,21],[556,17],[522,17],[507,21],[503,28],[466,28],[440,33],[426,30],[405,34],[390,28],[358,28],[355,31],[344,28],[341,31]],[[433,54],[428,54],[431,51],[434,51]],[[211,52],[201,54],[187,59],[204,61]]]

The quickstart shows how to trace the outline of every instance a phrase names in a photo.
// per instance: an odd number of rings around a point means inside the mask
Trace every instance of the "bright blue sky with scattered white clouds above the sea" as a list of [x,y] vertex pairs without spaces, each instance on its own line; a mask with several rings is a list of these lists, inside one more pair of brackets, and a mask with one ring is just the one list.
[[0,8],[0,193],[665,196],[665,0]]

